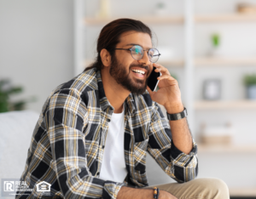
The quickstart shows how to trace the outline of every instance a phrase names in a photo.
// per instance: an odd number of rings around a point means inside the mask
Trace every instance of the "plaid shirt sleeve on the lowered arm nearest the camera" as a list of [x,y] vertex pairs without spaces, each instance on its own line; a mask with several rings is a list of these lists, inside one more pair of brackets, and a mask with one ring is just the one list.
[[49,99],[45,111],[52,165],[61,192],[65,198],[116,198],[125,184],[98,179],[87,166],[83,134],[87,108],[77,93],[61,90]]

